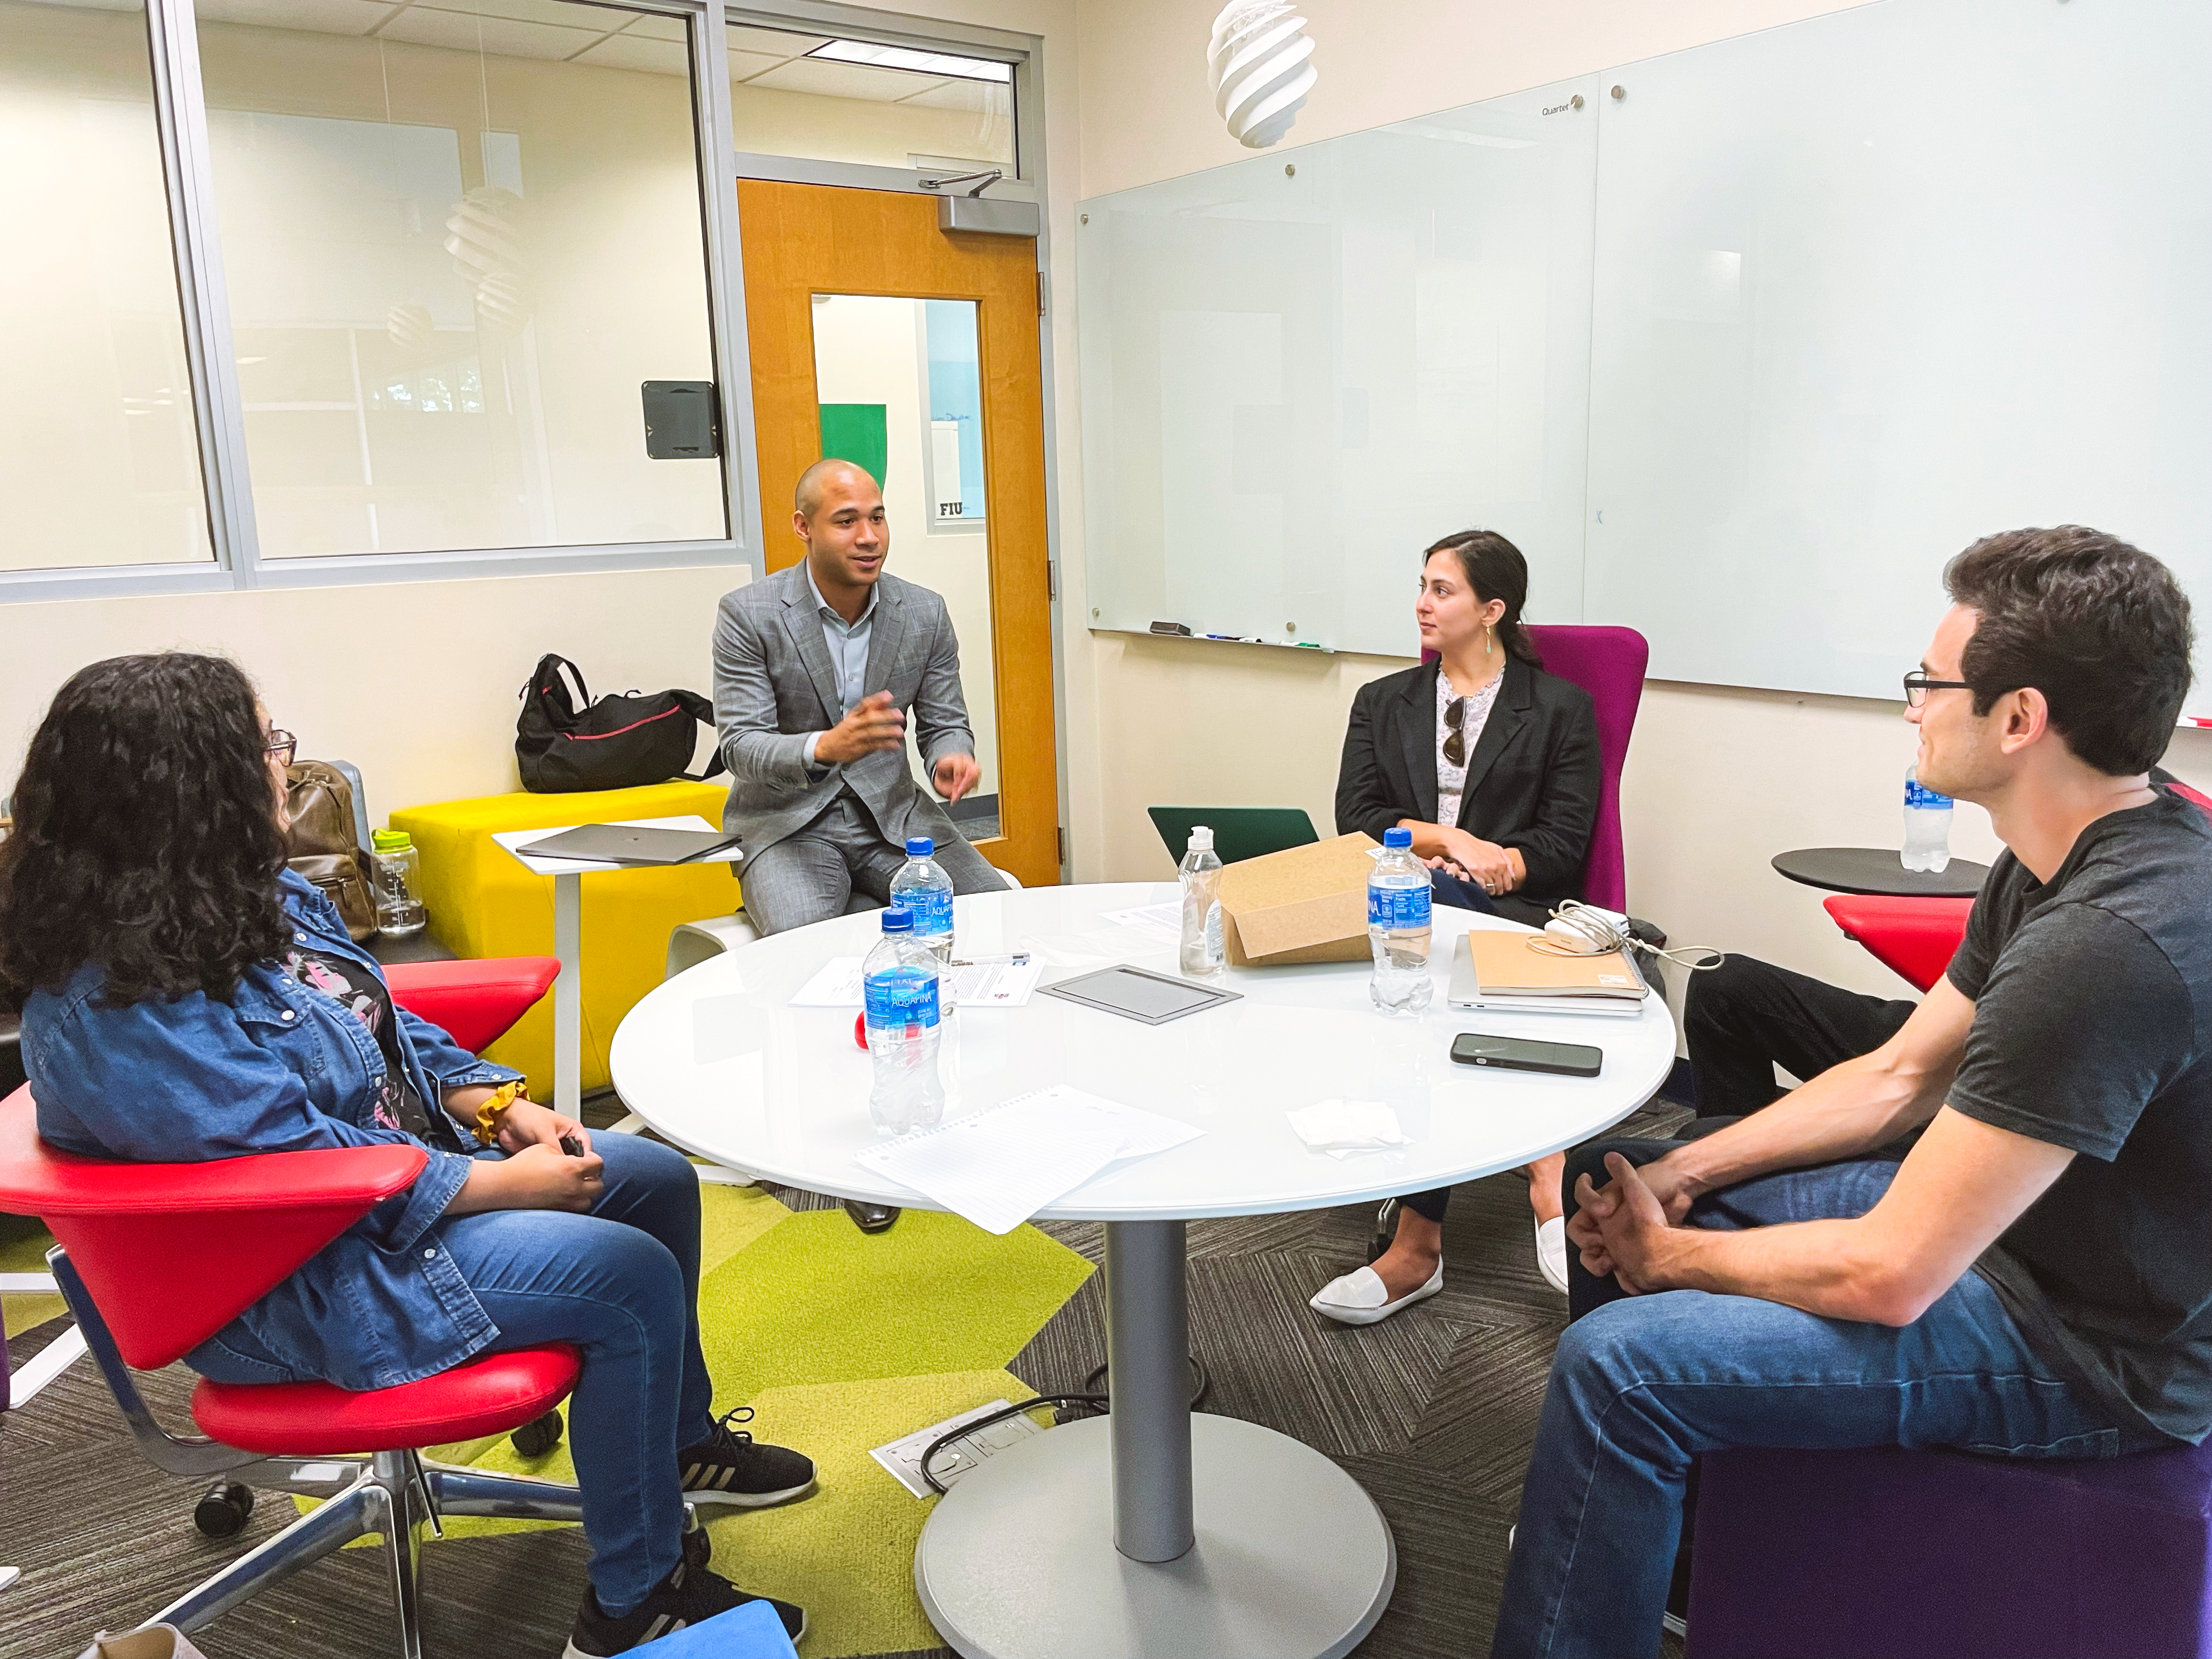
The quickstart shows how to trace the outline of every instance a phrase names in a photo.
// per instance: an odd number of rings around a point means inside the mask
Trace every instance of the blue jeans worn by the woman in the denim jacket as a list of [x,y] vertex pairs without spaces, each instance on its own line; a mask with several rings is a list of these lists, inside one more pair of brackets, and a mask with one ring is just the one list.
[[[591,1586],[619,1617],[684,1557],[677,1455],[712,1433],[714,1385],[699,1352],[699,1177],[681,1152],[637,1135],[602,1130],[591,1148],[606,1159],[591,1214],[484,1210],[447,1217],[425,1239],[453,1254],[500,1327],[491,1352],[538,1343],[584,1352],[568,1396],[568,1455],[584,1493]],[[217,1383],[292,1376],[265,1352],[226,1347],[234,1363],[206,1369]]]

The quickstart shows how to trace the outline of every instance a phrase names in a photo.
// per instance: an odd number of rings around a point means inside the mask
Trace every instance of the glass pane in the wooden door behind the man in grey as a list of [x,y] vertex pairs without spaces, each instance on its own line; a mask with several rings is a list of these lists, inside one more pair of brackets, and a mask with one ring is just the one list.
[[814,296],[821,453],[876,476],[891,529],[885,568],[940,593],[951,611],[982,776],[947,812],[969,841],[989,841],[1000,832],[998,686],[975,363],[971,299]]

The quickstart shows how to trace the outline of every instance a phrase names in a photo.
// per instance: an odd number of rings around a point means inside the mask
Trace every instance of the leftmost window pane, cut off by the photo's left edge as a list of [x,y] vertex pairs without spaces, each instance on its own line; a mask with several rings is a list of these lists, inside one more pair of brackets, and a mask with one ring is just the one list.
[[0,0],[0,571],[212,562],[137,0]]

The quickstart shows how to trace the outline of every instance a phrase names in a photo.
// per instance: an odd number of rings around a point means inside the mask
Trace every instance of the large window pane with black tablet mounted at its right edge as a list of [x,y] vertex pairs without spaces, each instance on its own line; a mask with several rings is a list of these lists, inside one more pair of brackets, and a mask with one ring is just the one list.
[[199,4],[261,555],[721,538],[684,29],[467,4]]

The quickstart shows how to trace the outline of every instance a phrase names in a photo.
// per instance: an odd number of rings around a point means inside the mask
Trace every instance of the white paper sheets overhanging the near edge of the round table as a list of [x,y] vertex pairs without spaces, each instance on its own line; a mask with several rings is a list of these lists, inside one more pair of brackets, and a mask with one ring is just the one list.
[[1166,1152],[1203,1133],[1053,1084],[951,1124],[878,1141],[856,1152],[854,1161],[984,1232],[1013,1232],[1108,1164]]

